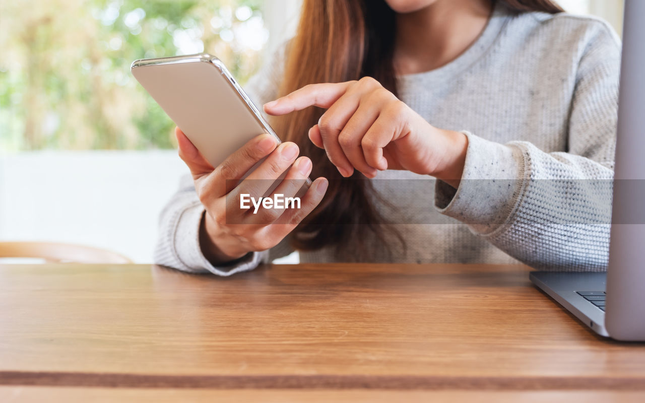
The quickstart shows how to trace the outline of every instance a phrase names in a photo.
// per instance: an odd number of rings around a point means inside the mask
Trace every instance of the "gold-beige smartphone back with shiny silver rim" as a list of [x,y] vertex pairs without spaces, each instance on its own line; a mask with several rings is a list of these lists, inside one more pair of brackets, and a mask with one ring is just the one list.
[[253,137],[275,135],[216,57],[135,61],[132,75],[213,167]]

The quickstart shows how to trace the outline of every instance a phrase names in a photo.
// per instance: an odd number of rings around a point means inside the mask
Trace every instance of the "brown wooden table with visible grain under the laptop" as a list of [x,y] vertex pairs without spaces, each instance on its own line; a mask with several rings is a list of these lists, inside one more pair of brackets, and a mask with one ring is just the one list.
[[0,400],[643,401],[645,344],[595,335],[528,270],[0,265]]

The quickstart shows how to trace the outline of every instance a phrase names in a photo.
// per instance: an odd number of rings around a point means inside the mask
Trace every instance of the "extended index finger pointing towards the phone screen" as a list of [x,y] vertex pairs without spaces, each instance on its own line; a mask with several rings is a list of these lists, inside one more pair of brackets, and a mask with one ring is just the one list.
[[270,115],[285,115],[309,106],[329,108],[344,94],[353,81],[345,83],[308,84],[289,95],[264,104],[264,112]]

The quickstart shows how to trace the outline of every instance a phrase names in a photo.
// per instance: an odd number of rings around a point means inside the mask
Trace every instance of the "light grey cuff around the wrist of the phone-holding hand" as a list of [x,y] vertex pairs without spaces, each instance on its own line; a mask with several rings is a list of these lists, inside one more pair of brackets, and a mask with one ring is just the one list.
[[240,271],[253,270],[262,262],[263,252],[249,252],[230,264],[213,266],[204,256],[199,244],[199,226],[203,215],[204,206],[195,204],[183,211],[175,227],[175,253],[185,266],[194,271],[208,270],[216,275],[230,276]]

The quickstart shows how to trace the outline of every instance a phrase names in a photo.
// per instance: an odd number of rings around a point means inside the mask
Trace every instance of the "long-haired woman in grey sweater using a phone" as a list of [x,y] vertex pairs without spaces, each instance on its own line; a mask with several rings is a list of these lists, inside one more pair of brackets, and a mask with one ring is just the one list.
[[[285,143],[259,136],[213,168],[177,130],[192,181],[161,215],[155,261],[230,275],[295,248],[604,270],[619,60],[606,23],[549,0],[305,0],[246,88],[277,99],[264,111]],[[318,177],[301,209],[227,208],[285,171],[286,195]]]

